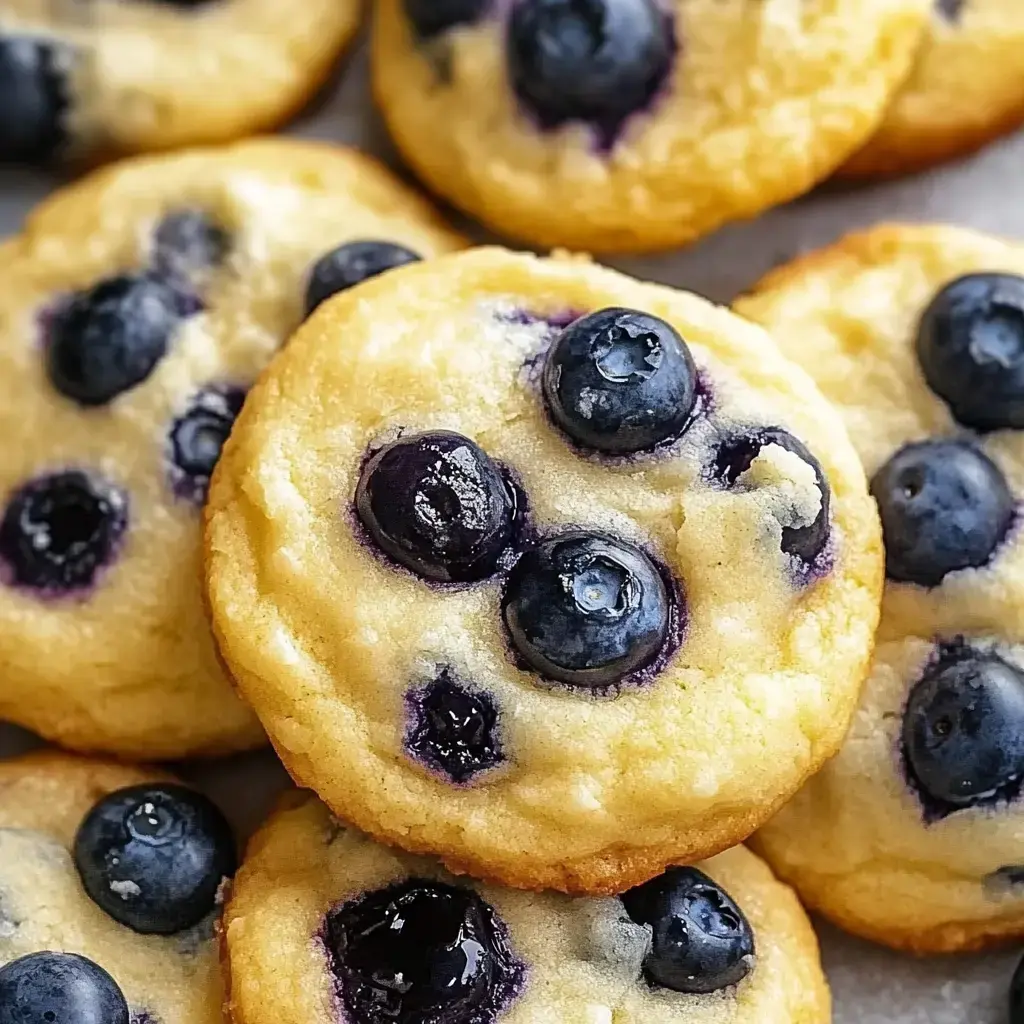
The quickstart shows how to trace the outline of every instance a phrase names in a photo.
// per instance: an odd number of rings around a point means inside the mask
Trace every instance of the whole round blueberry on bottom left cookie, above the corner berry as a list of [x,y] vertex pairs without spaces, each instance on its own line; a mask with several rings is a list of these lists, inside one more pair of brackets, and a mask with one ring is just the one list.
[[231,829],[202,794],[174,783],[118,790],[86,815],[75,864],[92,901],[143,935],[198,925],[234,873]]

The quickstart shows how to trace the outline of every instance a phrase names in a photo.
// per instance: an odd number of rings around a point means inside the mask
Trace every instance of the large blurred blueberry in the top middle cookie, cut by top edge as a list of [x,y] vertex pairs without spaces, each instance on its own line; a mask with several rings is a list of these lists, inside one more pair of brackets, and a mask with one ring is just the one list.
[[672,25],[654,0],[515,0],[512,87],[545,128],[592,124],[610,144],[668,77]]

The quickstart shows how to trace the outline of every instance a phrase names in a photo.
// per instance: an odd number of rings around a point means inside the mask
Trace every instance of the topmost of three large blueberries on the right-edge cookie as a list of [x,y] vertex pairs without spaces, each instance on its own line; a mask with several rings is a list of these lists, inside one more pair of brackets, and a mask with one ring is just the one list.
[[965,427],[1024,428],[1024,278],[971,273],[946,285],[921,317],[918,359]]

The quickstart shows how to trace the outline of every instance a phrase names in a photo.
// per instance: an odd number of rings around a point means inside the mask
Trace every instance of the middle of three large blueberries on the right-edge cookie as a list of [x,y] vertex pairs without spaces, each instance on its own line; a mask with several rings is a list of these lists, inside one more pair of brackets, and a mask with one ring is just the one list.
[[890,580],[936,587],[946,573],[984,565],[1014,518],[1006,478],[966,441],[900,449],[871,479]]

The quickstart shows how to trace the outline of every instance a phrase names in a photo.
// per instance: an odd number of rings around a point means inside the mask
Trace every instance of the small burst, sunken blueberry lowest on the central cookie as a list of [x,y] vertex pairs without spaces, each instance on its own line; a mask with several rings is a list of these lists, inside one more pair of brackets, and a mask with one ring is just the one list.
[[449,781],[462,784],[504,760],[494,698],[470,689],[444,668],[409,695],[410,754]]

